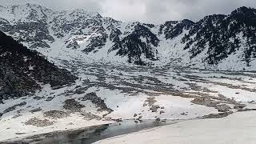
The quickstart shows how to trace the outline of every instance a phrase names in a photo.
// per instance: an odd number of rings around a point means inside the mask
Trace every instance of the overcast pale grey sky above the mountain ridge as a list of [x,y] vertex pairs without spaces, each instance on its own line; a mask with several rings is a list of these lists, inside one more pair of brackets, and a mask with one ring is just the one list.
[[160,23],[198,21],[209,14],[230,14],[240,6],[256,8],[256,0],[0,0],[1,5],[40,3],[55,10],[82,8],[121,21]]

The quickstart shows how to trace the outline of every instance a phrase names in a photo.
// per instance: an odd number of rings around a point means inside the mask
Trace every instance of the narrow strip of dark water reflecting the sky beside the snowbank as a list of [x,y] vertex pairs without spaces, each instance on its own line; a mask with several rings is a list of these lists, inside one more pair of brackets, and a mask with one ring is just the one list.
[[61,134],[50,134],[45,136],[46,138],[34,138],[38,139],[35,143],[42,144],[90,144],[93,142],[97,142],[99,140],[105,138],[111,138],[114,136],[122,135],[122,134],[130,134],[133,132],[137,132],[139,130],[145,130],[148,128],[156,127],[156,126],[164,126],[173,124],[174,121],[171,122],[134,122],[134,121],[125,121],[121,123],[115,123],[104,126],[94,126],[91,128],[86,128],[85,130],[73,130],[62,132]]

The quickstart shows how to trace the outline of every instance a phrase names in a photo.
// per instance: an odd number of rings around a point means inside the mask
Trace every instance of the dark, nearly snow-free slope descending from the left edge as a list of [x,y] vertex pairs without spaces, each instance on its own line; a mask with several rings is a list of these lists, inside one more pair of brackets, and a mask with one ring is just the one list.
[[0,32],[0,101],[33,94],[39,83],[63,86],[76,77]]

